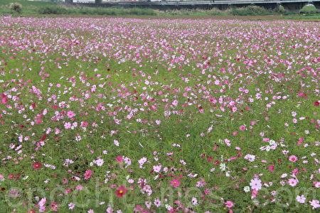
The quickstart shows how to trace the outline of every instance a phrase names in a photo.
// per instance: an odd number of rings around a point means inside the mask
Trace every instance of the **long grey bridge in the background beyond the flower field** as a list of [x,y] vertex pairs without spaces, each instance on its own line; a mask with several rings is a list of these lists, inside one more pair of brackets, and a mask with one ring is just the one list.
[[95,3],[74,3],[73,0],[65,0],[66,4],[75,4],[80,6],[123,6],[123,7],[141,7],[151,9],[213,9],[220,10],[229,9],[231,7],[243,6],[261,6],[265,9],[279,9],[279,6],[284,6],[287,11],[299,11],[306,4],[314,4],[317,9],[320,9],[320,0],[208,0],[208,1],[179,1],[179,0],[144,0],[144,1],[110,1],[102,2],[95,0]]

